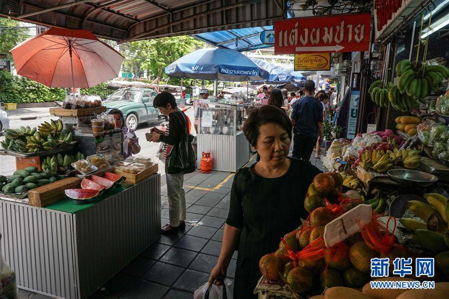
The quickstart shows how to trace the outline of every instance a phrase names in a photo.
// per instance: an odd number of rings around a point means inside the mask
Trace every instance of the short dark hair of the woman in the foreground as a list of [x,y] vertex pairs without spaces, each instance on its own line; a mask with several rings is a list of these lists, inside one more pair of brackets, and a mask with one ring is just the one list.
[[282,108],[264,105],[261,108],[251,109],[248,119],[243,125],[243,133],[253,147],[257,145],[260,127],[268,123],[279,125],[287,132],[290,140],[292,139],[292,121],[288,118],[287,113]]

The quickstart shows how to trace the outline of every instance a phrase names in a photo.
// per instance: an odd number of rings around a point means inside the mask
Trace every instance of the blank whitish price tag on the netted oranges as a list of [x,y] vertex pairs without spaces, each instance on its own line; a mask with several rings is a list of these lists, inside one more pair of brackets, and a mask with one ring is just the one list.
[[371,222],[372,216],[371,205],[362,204],[329,222],[324,228],[323,236],[326,247],[332,247],[359,232],[356,219],[363,225]]

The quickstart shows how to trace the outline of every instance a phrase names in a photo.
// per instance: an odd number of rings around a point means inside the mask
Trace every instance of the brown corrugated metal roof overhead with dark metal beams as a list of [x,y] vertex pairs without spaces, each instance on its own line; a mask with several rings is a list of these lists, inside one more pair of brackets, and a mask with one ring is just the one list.
[[[0,16],[119,41],[273,25],[283,0],[0,0]],[[249,40],[250,41],[250,40]]]

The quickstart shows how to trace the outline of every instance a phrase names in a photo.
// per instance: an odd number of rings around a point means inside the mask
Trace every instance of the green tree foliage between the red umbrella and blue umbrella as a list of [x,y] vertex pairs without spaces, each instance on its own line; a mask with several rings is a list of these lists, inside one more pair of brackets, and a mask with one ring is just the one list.
[[[176,59],[201,48],[204,42],[190,36],[173,36],[131,41],[120,45],[124,54],[123,70],[143,73],[148,70],[152,78],[167,79],[164,69]],[[169,82],[179,84],[180,79],[169,77]]]

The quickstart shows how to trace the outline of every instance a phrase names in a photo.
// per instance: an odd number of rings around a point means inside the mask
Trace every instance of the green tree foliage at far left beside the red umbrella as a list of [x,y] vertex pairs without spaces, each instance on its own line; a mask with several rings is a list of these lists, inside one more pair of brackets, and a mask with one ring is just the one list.
[[20,27],[19,22],[0,17],[0,53],[8,54],[8,60],[12,61],[9,50],[28,38],[27,35],[28,29]]

